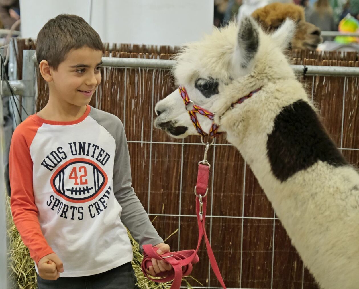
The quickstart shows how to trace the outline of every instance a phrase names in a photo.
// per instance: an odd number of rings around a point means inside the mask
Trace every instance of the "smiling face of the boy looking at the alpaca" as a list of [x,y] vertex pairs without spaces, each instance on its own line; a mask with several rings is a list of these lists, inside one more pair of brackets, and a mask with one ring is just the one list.
[[51,95],[67,104],[76,106],[89,104],[101,82],[101,58],[102,51],[88,47],[70,50],[57,70],[50,68]]

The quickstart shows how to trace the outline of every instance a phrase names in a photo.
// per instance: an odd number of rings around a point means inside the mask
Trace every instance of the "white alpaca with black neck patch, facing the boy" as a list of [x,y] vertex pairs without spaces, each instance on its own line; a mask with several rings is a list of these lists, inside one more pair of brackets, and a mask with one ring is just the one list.
[[[359,174],[328,137],[282,50],[287,20],[266,35],[251,18],[190,43],[174,76],[211,112],[272,203],[305,265],[323,289],[359,288]],[[241,104],[232,103],[261,88]],[[178,91],[159,101],[155,126],[197,134]],[[212,121],[199,116],[205,132]]]

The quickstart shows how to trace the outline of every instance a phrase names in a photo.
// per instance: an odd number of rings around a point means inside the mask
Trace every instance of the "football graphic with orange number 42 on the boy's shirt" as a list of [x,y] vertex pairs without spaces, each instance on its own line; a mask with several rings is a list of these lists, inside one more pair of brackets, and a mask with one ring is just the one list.
[[53,191],[66,201],[88,202],[97,197],[107,183],[106,173],[89,159],[72,159],[62,164],[51,177]]

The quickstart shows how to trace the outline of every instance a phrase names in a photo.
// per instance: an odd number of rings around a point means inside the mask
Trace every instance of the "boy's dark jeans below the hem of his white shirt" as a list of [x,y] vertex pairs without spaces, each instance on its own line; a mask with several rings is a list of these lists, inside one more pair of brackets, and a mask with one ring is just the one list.
[[83,277],[60,277],[45,280],[37,275],[39,289],[134,289],[135,276],[131,262],[109,271]]

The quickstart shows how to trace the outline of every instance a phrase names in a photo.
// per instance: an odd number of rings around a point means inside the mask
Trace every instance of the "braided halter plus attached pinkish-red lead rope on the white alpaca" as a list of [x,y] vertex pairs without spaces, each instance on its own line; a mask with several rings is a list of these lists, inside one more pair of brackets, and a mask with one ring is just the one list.
[[[257,90],[254,90],[250,92],[250,94],[239,98],[238,101],[234,102],[229,109],[233,109],[233,107],[236,104],[241,104],[246,99],[250,98],[253,94],[260,91],[261,88],[258,88]],[[143,250],[145,252],[145,256],[142,261],[142,271],[143,274],[150,280],[154,282],[168,282],[173,280],[171,289],[179,289],[182,283],[182,277],[188,276],[192,272],[192,264],[197,263],[199,261],[197,252],[200,247],[202,238],[204,237],[206,242],[206,249],[209,261],[211,263],[212,270],[214,274],[216,275],[219,283],[222,285],[224,289],[226,289],[221,273],[218,269],[218,265],[216,262],[216,259],[214,257],[211,245],[209,243],[206,230],[205,230],[205,221],[206,221],[206,205],[207,205],[207,193],[208,193],[208,176],[209,176],[209,169],[211,165],[207,161],[207,152],[209,149],[209,146],[213,143],[207,143],[205,144],[203,142],[204,136],[210,136],[212,138],[216,137],[218,134],[218,125],[216,125],[214,122],[212,123],[212,126],[210,128],[209,133],[205,133],[201,125],[199,124],[199,121],[197,119],[196,113],[199,113],[201,115],[206,116],[210,120],[213,121],[214,119],[214,113],[211,113],[210,111],[196,105],[193,101],[190,100],[188,97],[187,91],[185,87],[179,88],[181,97],[183,101],[185,102],[186,109],[191,117],[192,123],[194,124],[197,132],[201,134],[202,138],[201,141],[204,145],[206,145],[205,154],[204,154],[204,160],[200,161],[198,163],[198,175],[197,175],[197,185],[195,187],[195,195],[196,195],[196,211],[197,211],[197,223],[198,223],[198,230],[199,230],[199,236],[198,236],[198,244],[196,250],[185,250],[185,251],[179,251],[179,252],[171,252],[166,253],[163,255],[158,255],[156,253],[157,248],[152,247],[151,245],[144,245]],[[188,110],[187,106],[189,104],[193,105],[192,110]],[[214,141],[214,140],[213,140]],[[163,277],[162,279],[152,279],[148,275],[148,268],[149,266],[152,266],[151,258],[157,259],[157,260],[163,260],[169,264],[172,265],[173,271],[169,272],[162,272],[157,275],[157,277]]]

